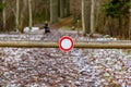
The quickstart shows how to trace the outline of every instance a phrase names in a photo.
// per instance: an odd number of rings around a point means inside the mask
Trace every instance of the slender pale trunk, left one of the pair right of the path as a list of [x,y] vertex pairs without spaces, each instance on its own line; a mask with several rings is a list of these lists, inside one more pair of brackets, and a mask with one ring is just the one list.
[[82,28],[83,28],[83,35],[86,35],[86,28],[85,28],[85,0],[82,0]]

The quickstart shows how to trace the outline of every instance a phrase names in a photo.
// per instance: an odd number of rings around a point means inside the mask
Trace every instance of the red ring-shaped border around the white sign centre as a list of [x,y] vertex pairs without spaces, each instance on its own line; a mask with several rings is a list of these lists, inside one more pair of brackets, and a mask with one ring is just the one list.
[[[71,41],[71,47],[69,49],[64,49],[62,46],[61,46],[61,42],[63,39],[69,39]],[[69,36],[63,36],[62,38],[59,39],[59,48],[63,51],[71,51],[73,48],[74,48],[74,41],[71,37]]]

